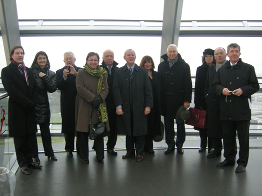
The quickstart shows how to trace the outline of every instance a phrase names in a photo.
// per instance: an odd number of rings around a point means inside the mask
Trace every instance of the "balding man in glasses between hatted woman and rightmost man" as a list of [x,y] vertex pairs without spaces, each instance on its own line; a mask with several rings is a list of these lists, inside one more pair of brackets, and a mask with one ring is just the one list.
[[220,96],[214,93],[212,89],[212,83],[214,80],[214,76],[216,71],[224,65],[227,60],[225,49],[222,47],[218,47],[214,50],[214,58],[216,63],[208,67],[207,76],[204,88],[205,101],[207,106],[207,130],[208,130],[208,138],[211,138],[213,145],[213,152],[208,154],[207,158],[215,158],[221,155],[221,151],[223,148],[222,138],[223,138],[223,130],[222,130],[222,122],[220,120],[220,107],[219,100]]

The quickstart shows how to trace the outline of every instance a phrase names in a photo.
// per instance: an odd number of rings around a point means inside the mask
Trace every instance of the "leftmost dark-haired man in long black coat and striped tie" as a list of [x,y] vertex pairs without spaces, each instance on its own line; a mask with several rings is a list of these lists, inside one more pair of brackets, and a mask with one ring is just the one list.
[[17,163],[23,174],[30,174],[28,168],[40,169],[33,163],[33,148],[37,127],[35,103],[37,85],[32,72],[23,63],[22,46],[14,46],[10,51],[11,63],[1,71],[2,84],[9,94],[8,130],[13,137]]

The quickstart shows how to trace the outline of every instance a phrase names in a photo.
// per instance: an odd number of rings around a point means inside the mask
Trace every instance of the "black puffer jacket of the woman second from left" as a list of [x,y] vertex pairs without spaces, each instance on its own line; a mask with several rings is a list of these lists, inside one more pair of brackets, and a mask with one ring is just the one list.
[[[47,91],[49,93],[56,91],[55,73],[50,70],[49,65],[41,69],[38,64],[35,64],[31,67],[31,70],[38,86],[38,98],[35,106],[36,121],[38,124],[50,123],[50,107]],[[40,78],[40,72],[44,73],[45,76]]]

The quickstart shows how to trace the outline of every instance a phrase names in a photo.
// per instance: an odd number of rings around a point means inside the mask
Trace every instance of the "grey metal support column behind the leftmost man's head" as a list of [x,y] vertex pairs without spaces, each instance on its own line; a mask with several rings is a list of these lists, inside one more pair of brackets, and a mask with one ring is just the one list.
[[0,0],[0,27],[6,65],[8,65],[10,50],[15,45],[21,45],[15,0]]

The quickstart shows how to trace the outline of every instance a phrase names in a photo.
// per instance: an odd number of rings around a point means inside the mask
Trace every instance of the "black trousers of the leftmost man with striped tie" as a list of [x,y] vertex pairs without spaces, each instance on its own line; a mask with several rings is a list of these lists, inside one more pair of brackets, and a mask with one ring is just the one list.
[[34,155],[33,151],[35,147],[35,138],[35,133],[29,133],[25,136],[13,137],[16,159],[20,168],[33,163],[32,157]]

